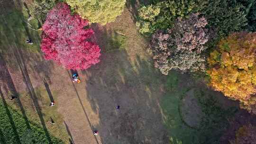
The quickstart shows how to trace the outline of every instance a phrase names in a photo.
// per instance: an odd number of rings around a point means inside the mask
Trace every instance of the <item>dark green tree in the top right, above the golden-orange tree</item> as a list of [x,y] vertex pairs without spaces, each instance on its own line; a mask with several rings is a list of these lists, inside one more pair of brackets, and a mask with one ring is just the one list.
[[241,31],[247,26],[247,14],[238,0],[206,0],[208,5],[201,14],[208,19],[208,27],[214,27],[219,36]]

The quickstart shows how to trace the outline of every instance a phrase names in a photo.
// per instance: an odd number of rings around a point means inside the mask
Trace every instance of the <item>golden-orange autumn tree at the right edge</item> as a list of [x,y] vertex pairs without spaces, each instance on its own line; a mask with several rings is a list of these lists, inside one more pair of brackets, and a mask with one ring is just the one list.
[[256,113],[256,33],[234,33],[220,40],[208,58],[210,85],[240,107]]

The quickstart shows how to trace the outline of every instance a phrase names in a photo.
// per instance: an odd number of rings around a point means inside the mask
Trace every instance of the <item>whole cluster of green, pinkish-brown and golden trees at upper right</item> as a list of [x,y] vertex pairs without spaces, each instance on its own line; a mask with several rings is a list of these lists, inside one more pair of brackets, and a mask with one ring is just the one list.
[[214,90],[256,113],[255,22],[256,0],[153,0],[136,25],[160,72],[207,70]]

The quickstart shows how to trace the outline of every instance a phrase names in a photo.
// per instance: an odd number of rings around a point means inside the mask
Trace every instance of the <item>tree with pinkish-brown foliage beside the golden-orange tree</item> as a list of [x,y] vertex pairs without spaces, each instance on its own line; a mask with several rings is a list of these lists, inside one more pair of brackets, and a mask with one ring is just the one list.
[[207,20],[196,13],[189,18],[178,18],[174,28],[168,31],[157,31],[150,46],[155,67],[166,75],[171,69],[204,71],[201,52],[207,48],[204,46],[209,37],[206,25]]

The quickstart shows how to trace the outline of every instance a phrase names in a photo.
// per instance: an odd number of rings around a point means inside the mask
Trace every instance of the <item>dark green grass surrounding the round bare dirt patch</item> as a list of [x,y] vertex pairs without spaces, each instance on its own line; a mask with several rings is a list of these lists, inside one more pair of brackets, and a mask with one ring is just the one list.
[[167,92],[160,104],[164,112],[164,123],[168,130],[170,144],[219,144],[219,137],[229,126],[228,118],[235,113],[234,109],[224,110],[217,103],[218,100],[207,94],[202,88],[195,90],[194,95],[204,113],[199,128],[188,126],[182,118],[180,108],[186,92],[193,86],[179,86],[180,78],[177,72],[170,72],[165,86]]

